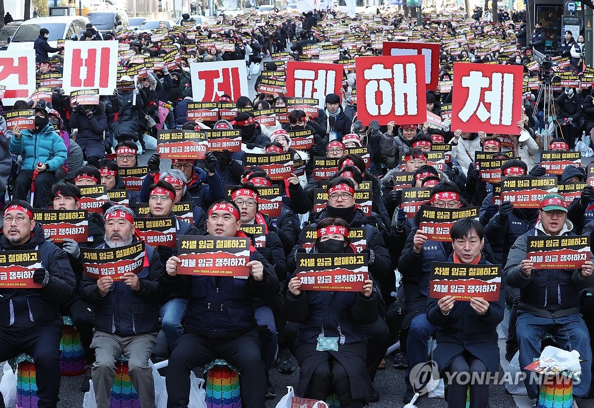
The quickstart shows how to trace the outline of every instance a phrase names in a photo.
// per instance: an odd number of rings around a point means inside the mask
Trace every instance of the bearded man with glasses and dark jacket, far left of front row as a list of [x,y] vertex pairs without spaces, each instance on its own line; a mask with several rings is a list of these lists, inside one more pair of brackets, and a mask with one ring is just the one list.
[[[23,200],[7,204],[0,246],[2,251],[37,250],[42,264],[33,273],[33,282],[39,283],[39,288],[0,289],[0,359],[7,361],[18,353],[32,355],[37,372],[37,406],[55,408],[62,338],[59,304],[74,293],[74,273],[66,254],[45,240],[41,225],[33,219],[33,208]],[[0,401],[4,407],[1,394]]]

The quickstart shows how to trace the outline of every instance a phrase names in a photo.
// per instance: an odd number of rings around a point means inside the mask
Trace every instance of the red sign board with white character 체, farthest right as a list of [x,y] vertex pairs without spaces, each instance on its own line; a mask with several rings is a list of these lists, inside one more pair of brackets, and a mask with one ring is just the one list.
[[451,129],[519,135],[523,66],[454,63]]

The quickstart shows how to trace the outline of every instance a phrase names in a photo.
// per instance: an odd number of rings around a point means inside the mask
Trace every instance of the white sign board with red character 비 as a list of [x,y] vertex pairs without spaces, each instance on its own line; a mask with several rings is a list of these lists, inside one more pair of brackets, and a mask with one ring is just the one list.
[[116,87],[118,69],[117,41],[67,41],[64,43],[62,89],[99,89],[111,95]]

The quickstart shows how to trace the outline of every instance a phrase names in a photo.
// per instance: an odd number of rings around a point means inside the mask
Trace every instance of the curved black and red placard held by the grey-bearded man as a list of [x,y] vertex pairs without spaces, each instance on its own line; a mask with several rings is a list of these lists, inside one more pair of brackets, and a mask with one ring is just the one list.
[[81,247],[80,255],[83,260],[83,273],[94,279],[103,276],[122,279],[124,273],[140,272],[146,262],[143,242],[116,248]]

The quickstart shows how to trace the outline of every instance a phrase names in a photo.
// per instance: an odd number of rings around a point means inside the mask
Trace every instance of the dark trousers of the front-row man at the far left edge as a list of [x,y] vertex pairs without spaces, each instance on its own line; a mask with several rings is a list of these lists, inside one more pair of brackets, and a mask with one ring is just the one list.
[[[35,360],[39,408],[55,408],[60,390],[60,340],[62,322],[36,324],[27,329],[0,328],[0,361],[7,361],[20,353]],[[4,399],[0,396],[0,407]]]

